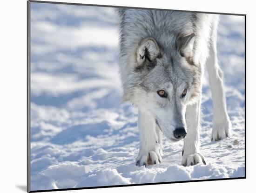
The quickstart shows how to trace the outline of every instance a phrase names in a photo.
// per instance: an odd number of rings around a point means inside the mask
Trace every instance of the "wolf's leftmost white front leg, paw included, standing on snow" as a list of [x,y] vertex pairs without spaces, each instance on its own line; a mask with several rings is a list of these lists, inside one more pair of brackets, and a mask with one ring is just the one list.
[[137,166],[158,164],[161,157],[161,136],[156,132],[155,120],[149,112],[138,113],[140,131],[140,151],[136,158]]

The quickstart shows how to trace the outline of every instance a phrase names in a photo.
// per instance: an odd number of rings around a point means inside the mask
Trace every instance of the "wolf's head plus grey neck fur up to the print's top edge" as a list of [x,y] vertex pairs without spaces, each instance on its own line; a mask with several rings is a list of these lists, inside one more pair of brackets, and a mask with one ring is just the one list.
[[119,15],[123,100],[149,112],[166,137],[181,140],[186,107],[201,98],[200,17],[133,9],[119,9]]

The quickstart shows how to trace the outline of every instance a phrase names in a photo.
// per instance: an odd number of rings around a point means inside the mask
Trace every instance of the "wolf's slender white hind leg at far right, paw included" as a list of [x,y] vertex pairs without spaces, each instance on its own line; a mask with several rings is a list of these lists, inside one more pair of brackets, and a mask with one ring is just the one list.
[[218,141],[231,136],[231,122],[226,107],[223,73],[217,60],[216,31],[209,45],[209,58],[206,67],[209,74],[209,85],[213,100],[213,129],[211,140]]

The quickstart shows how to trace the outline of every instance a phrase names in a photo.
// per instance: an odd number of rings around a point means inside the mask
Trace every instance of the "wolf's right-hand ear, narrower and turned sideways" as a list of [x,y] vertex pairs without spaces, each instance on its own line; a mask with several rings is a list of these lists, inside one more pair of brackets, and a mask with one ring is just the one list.
[[177,49],[181,56],[190,58],[194,48],[195,33],[189,35],[182,35],[177,38]]

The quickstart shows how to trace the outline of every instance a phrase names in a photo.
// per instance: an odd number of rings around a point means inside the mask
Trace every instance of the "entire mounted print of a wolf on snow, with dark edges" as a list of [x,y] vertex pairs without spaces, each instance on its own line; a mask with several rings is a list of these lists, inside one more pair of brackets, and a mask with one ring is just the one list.
[[246,177],[246,15],[27,8],[28,192]]

